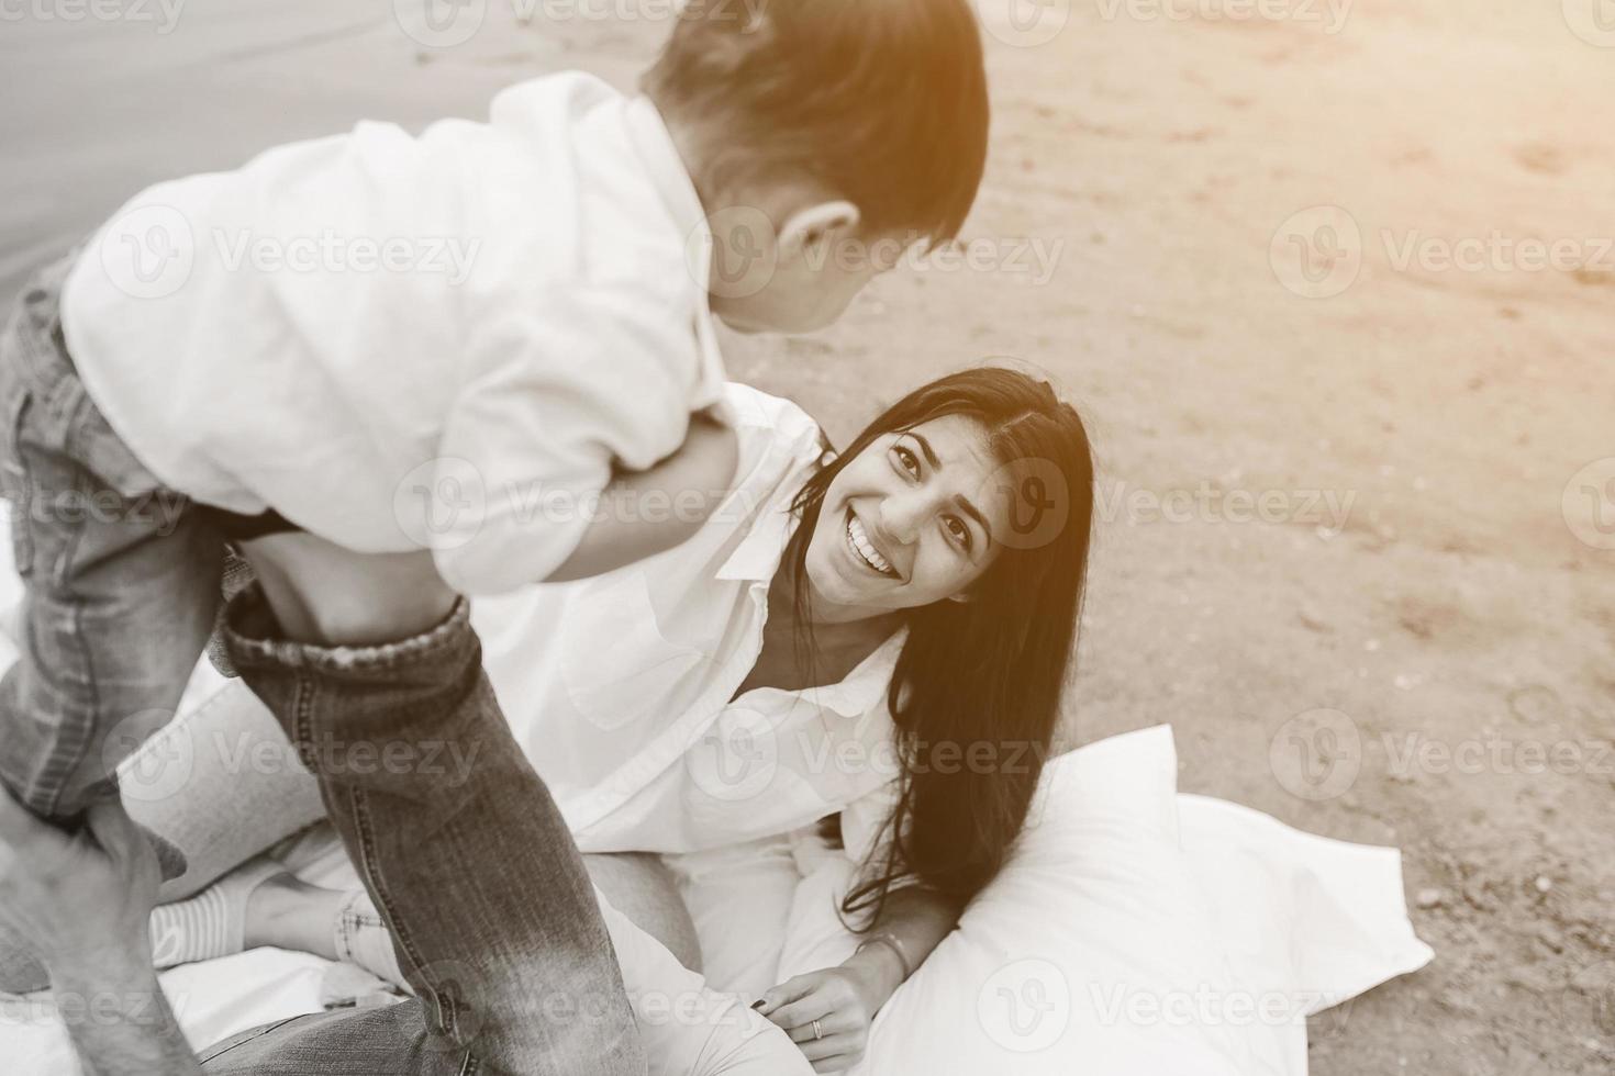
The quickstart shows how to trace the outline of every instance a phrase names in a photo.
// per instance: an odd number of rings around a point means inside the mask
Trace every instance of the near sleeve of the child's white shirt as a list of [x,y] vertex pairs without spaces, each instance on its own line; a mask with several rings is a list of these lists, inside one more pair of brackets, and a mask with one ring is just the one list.
[[615,465],[641,471],[683,444],[693,311],[580,287],[488,326],[472,361],[434,461],[433,487],[457,510],[428,544],[451,587],[488,595],[565,563]]

